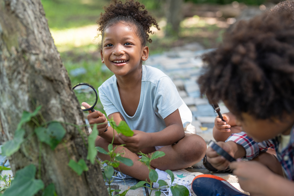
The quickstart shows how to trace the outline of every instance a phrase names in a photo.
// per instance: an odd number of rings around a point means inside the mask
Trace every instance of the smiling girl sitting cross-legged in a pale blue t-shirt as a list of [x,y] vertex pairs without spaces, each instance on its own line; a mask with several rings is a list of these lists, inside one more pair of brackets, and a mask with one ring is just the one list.
[[[182,122],[181,116],[192,117],[192,114],[171,79],[157,68],[142,65],[149,55],[146,43],[151,43],[150,28],[154,25],[159,30],[156,20],[139,2],[113,1],[101,14],[98,24],[102,32],[102,63],[114,73],[98,88],[99,98],[108,118],[117,124],[126,121],[134,132],[132,137],[126,137],[114,131],[114,144],[125,144],[117,151],[124,148],[124,157],[134,162],[132,167],[121,164],[119,169],[139,180],[149,180],[148,168],[138,161],[137,153],[159,149],[166,155],[151,162],[151,168],[158,172],[158,180],[169,180],[164,170],[175,170],[181,176],[177,182],[183,182],[191,190],[189,186],[197,174],[180,169],[199,162],[204,157],[206,143],[196,134],[185,134],[183,123],[187,123]],[[88,120],[90,124],[107,122],[100,111],[90,113]],[[96,145],[107,150],[113,129],[107,123],[97,128]],[[98,156],[109,159],[104,154]],[[156,184],[153,186],[158,187]]]

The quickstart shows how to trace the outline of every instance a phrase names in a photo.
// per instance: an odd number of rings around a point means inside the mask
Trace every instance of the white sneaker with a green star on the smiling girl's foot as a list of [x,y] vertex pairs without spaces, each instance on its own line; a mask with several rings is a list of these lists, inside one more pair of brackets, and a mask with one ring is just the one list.
[[[173,172],[173,175],[175,177],[175,180],[173,182],[171,182],[171,176],[170,175],[167,175],[168,180],[165,180],[165,181],[168,184],[168,186],[174,185],[174,184],[184,185],[185,187],[188,188],[189,193],[190,193],[190,196],[191,195],[196,196],[194,194],[193,190],[192,190],[192,185],[191,184],[192,184],[193,179],[196,176],[202,175],[203,173],[200,173],[200,172],[188,172],[185,169],[182,169],[182,170],[173,170],[172,172]],[[165,192],[168,192],[168,195],[166,195]],[[167,191],[164,191],[163,193],[166,196],[172,196],[173,195],[170,188],[168,188],[168,190]]]

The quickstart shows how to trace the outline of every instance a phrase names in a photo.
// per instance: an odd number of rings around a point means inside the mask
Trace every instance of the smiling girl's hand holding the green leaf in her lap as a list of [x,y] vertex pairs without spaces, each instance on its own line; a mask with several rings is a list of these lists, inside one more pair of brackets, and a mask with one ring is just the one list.
[[123,134],[116,134],[116,138],[121,144],[125,144],[131,152],[137,153],[143,148],[148,146],[148,133],[139,130],[133,130],[134,135],[132,137],[124,136]]

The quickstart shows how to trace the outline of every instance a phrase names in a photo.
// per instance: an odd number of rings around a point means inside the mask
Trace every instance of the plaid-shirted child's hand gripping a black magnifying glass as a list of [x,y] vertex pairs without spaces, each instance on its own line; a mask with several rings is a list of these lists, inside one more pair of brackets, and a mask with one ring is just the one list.
[[[232,157],[234,157],[232,153],[231,146],[229,143],[225,142],[218,142],[217,145],[220,146],[220,148],[223,148],[227,153],[229,153]],[[226,160],[223,156],[218,155],[215,150],[212,148],[207,148],[206,150],[206,158],[207,161],[216,169],[218,170],[225,170],[230,165],[230,162]]]

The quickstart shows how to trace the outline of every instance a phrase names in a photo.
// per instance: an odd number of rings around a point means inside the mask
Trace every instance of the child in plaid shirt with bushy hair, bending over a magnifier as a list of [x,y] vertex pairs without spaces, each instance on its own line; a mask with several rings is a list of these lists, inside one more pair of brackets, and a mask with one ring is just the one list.
[[[293,13],[279,12],[238,22],[225,33],[223,44],[206,55],[205,73],[198,80],[201,93],[223,100],[244,131],[217,144],[235,159],[250,160],[230,163],[208,148],[207,161],[218,170],[229,166],[251,196],[294,193],[292,19]],[[266,153],[268,148],[276,156]]]

